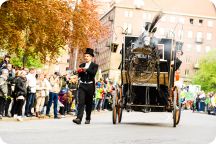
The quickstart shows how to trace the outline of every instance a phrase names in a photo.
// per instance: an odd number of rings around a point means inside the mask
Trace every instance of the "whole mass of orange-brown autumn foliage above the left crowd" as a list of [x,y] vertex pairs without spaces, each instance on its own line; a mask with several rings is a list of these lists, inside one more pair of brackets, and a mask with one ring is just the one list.
[[[69,45],[70,51],[90,46],[106,31],[96,6],[88,0],[9,0],[0,9],[0,47],[14,57],[55,61]],[[25,59],[23,59],[25,60]]]

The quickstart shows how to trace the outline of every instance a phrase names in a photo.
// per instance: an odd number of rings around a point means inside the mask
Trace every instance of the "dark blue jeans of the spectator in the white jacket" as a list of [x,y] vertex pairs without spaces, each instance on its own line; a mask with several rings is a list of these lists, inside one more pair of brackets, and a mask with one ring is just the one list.
[[26,106],[25,106],[25,115],[31,114],[31,109],[34,106],[35,93],[28,93]]

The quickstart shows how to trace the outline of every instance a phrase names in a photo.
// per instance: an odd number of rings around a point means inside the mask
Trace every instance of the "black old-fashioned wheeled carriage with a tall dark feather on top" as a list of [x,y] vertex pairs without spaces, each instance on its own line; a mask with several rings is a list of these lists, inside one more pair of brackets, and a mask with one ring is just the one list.
[[121,84],[113,96],[113,124],[121,122],[123,109],[172,112],[173,126],[180,121],[179,92],[174,83],[175,72],[181,65],[176,52],[181,50],[183,43],[153,36],[160,17],[157,15],[147,24],[145,32],[130,46],[125,44],[122,48]]

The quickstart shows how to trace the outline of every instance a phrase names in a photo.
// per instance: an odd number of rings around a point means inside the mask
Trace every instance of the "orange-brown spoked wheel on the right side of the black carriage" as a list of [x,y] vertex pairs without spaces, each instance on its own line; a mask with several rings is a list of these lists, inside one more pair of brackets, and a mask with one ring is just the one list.
[[173,127],[176,127],[179,124],[181,116],[181,108],[178,99],[178,89],[177,87],[173,88]]

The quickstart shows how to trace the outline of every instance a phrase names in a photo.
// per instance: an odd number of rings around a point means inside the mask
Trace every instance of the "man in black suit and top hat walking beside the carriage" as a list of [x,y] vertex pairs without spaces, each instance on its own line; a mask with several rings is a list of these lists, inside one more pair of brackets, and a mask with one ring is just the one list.
[[84,108],[86,110],[85,124],[90,124],[93,95],[95,93],[95,75],[98,70],[98,65],[92,62],[94,50],[87,48],[85,52],[85,63],[79,66],[79,89],[78,89],[78,113],[77,118],[73,119],[76,124],[81,124]]

